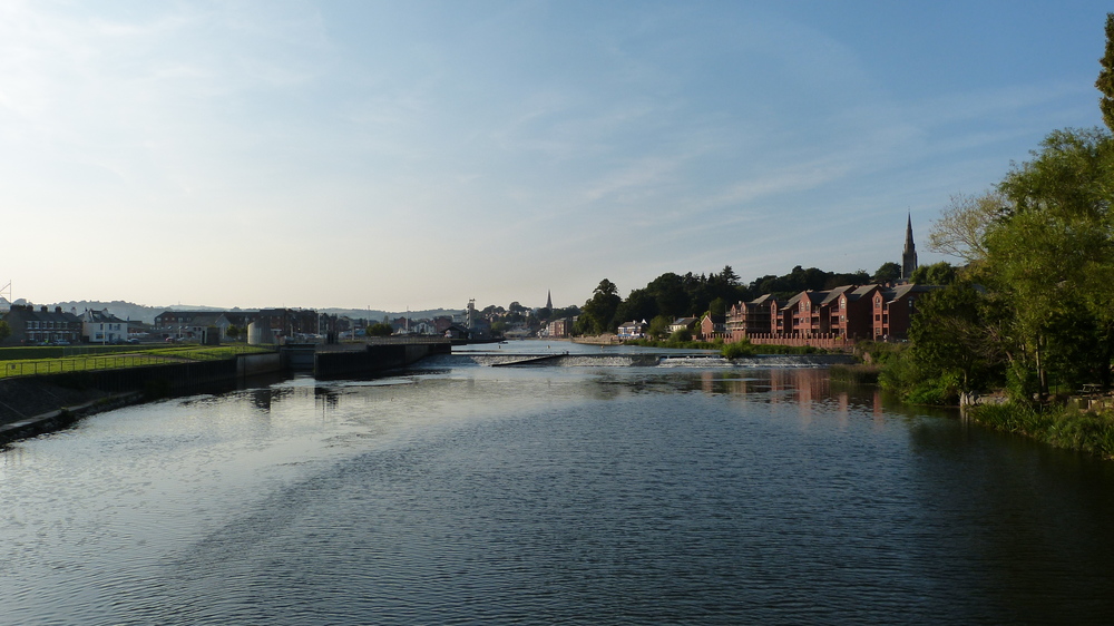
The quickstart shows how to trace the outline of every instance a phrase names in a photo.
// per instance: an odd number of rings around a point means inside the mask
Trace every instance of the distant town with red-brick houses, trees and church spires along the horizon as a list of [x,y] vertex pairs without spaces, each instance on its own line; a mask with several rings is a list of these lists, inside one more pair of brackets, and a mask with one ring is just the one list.
[[[909,219],[902,263],[886,263],[873,276],[862,271],[831,274],[795,267],[785,276],[765,276],[744,286],[727,266],[711,276],[665,274],[645,290],[634,290],[626,301],[605,278],[583,311],[578,306],[556,309],[547,293],[545,306],[539,307],[511,302],[506,309],[477,309],[472,300],[462,310],[402,315],[286,307],[167,307],[155,313],[157,309],[126,302],[36,305],[22,300],[9,303],[0,296],[0,344],[335,342],[369,334],[465,340],[608,335],[612,341],[623,341],[680,333],[709,342],[746,340],[840,348],[862,339],[906,336],[917,299],[937,288],[915,284],[917,270]],[[841,280],[850,282],[819,288],[818,281],[829,284]],[[802,288],[785,291],[794,286]],[[781,291],[746,297],[762,287]],[[676,293],[670,295],[671,290]]]

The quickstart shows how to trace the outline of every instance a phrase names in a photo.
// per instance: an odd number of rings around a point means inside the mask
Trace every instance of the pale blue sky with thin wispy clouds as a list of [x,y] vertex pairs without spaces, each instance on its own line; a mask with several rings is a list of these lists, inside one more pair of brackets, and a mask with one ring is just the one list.
[[[582,305],[921,263],[1102,124],[1101,2],[0,0],[0,286]],[[3,295],[8,295],[4,293]]]

